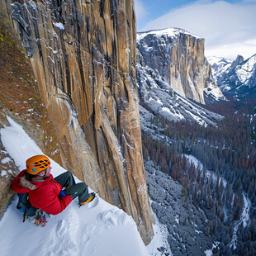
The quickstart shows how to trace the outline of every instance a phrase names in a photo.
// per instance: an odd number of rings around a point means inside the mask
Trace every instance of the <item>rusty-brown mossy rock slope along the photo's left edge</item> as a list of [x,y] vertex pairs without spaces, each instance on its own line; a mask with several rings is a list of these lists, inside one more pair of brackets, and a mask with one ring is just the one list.
[[[29,60],[13,31],[7,12],[0,6],[0,129],[10,126],[7,116],[24,127],[45,154],[60,163],[59,145],[55,127],[50,121]],[[19,168],[2,145],[0,132],[0,219],[12,200],[12,176]],[[13,141],[14,145],[16,141]],[[25,167],[25,161],[24,161]]]

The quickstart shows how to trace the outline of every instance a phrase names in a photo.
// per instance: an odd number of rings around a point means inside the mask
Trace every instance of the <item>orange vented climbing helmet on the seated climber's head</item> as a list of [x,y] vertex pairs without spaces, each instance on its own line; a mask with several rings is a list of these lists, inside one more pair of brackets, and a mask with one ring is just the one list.
[[26,160],[26,173],[34,174],[40,173],[50,166],[50,160],[47,156],[37,154]]

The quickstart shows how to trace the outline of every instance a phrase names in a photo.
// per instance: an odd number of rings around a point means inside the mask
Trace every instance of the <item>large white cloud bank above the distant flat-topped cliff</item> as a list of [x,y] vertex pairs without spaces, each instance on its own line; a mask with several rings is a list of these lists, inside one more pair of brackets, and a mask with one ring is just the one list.
[[[206,39],[210,53],[235,59],[256,53],[256,2],[197,1],[149,21],[144,30],[180,27]],[[215,52],[216,51],[216,52]]]

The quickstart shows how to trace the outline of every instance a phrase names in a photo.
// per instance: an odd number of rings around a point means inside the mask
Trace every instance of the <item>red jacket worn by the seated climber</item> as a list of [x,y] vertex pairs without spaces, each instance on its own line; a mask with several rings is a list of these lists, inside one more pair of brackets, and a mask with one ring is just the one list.
[[69,203],[72,201],[72,197],[66,195],[59,199],[58,196],[62,186],[55,181],[52,174],[50,174],[49,178],[46,178],[41,182],[30,182],[36,185],[36,189],[31,190],[30,188],[22,187],[19,183],[20,177],[23,176],[25,172],[26,170],[21,171],[17,178],[12,180],[12,187],[17,193],[28,192],[29,200],[32,206],[40,208],[41,210],[52,215],[60,213],[67,206],[69,206]]

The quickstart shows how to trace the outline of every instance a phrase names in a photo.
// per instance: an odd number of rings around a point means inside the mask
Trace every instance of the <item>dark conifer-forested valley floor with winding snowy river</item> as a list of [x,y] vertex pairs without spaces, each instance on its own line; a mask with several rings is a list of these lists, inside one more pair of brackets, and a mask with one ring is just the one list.
[[225,116],[217,127],[167,121],[156,113],[151,124],[163,140],[142,134],[144,159],[183,185],[183,197],[192,197],[209,235],[220,242],[216,254],[256,254],[255,106],[254,99],[234,98],[204,106]]

